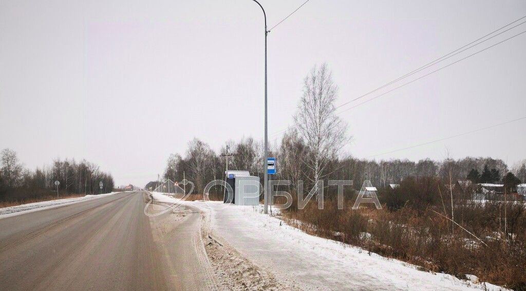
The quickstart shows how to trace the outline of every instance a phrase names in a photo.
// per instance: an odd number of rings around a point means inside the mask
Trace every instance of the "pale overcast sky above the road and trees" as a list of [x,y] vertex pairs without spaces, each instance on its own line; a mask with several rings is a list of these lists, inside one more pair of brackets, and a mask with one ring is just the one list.
[[[303,2],[261,0],[269,28]],[[339,105],[525,15],[523,0],[311,0],[268,37],[270,140],[291,124],[315,64],[332,70]],[[86,158],[118,185],[144,186],[193,137],[216,150],[262,139],[263,25],[250,0],[0,0],[0,148],[31,168]],[[523,34],[341,113],[353,136],[345,150],[369,157],[526,116],[525,52]],[[448,149],[513,165],[526,158],[525,128],[522,120],[376,159],[442,159]]]

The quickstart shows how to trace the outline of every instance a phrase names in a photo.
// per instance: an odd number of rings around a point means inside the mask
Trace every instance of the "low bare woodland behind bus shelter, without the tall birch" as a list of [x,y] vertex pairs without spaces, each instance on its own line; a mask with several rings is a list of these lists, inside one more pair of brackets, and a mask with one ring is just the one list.
[[[196,192],[201,193],[206,183],[215,179],[225,178],[226,147],[230,148],[228,168],[234,170],[248,170],[253,176],[263,176],[262,142],[252,137],[242,138],[239,142],[228,141],[219,152],[215,152],[207,143],[194,138],[188,143],[186,153],[172,154],[168,158],[164,177],[174,181],[186,178],[196,184]],[[277,174],[270,176],[275,180],[290,180],[294,189],[299,180],[306,184],[312,177],[309,166],[304,163],[309,155],[308,147],[294,131],[289,131],[281,140],[280,146],[271,148],[269,156],[277,158]],[[491,169],[491,170],[489,170]],[[526,160],[515,165],[511,171],[521,181],[526,181]],[[490,177],[484,174],[491,173]],[[473,179],[474,182],[500,182],[510,169],[501,159],[490,157],[466,157],[462,159],[447,158],[444,160],[422,159],[411,161],[408,159],[367,160],[355,157],[336,157],[329,161],[326,171],[321,178],[325,180],[353,180],[355,189],[360,189],[365,180],[371,180],[373,186],[385,188],[389,184],[399,184],[408,177],[433,177],[449,184],[450,179],[455,182],[460,179]],[[478,177],[474,179],[474,177]],[[330,191],[329,191],[330,193]]]

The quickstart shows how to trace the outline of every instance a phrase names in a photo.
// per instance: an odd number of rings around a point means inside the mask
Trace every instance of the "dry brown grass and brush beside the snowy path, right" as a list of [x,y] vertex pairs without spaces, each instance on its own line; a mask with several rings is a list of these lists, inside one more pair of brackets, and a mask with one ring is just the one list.
[[[484,282],[526,290],[526,207],[523,203],[508,204],[511,234],[506,238],[503,228],[499,227],[501,202],[454,201],[455,220],[481,238],[485,246],[459,227],[452,228],[449,220],[426,210],[432,208],[440,213],[445,210],[448,217],[451,212],[450,208],[444,209],[441,201],[429,199],[426,193],[411,195],[413,190],[431,185],[429,181],[419,184],[419,181],[402,184],[400,191],[404,191],[407,196],[404,199],[409,200],[402,201],[405,204],[402,207],[384,204],[381,210],[352,210],[354,201],[348,199],[339,210],[334,199],[327,199],[322,210],[316,201],[311,201],[303,210],[291,208],[284,214],[288,223],[307,233],[357,245],[421,266],[423,270],[459,278],[472,274]],[[395,204],[398,203],[391,201],[392,206]]]

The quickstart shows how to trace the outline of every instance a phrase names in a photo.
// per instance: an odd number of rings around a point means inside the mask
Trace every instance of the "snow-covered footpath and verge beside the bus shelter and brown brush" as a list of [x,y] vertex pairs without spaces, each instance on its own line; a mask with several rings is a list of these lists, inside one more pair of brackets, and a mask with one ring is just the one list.
[[262,207],[217,201],[180,201],[161,193],[154,199],[195,206],[207,213],[208,227],[239,253],[283,282],[327,290],[500,290],[488,283],[419,271],[414,265],[319,238],[262,214]]

